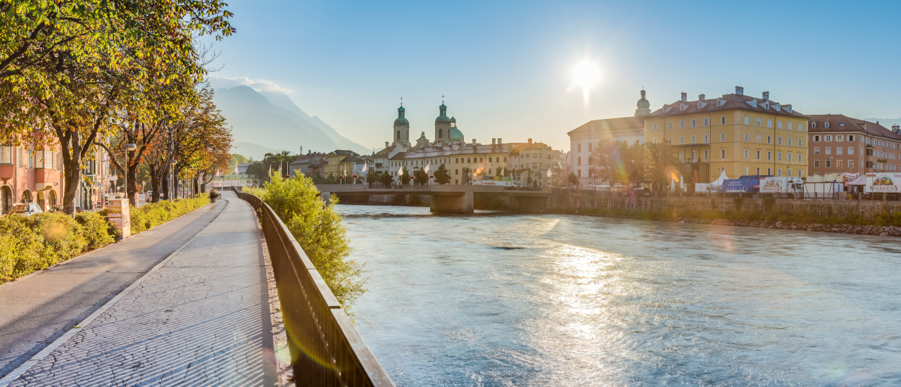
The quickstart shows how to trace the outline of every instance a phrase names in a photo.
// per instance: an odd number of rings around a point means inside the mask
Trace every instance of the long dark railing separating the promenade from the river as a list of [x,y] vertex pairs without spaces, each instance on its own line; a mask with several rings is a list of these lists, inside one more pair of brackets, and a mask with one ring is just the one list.
[[257,211],[262,223],[296,385],[393,387],[285,223],[258,197],[232,191]]

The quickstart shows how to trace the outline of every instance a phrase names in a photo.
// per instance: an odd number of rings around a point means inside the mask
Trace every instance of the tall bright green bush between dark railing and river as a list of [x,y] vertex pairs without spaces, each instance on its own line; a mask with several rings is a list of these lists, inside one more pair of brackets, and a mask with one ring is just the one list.
[[326,205],[318,194],[309,177],[272,175],[261,199],[285,222],[325,284],[349,308],[365,293],[365,280],[360,278],[363,266],[349,258],[350,242],[333,207],[338,198],[332,195],[332,204]]

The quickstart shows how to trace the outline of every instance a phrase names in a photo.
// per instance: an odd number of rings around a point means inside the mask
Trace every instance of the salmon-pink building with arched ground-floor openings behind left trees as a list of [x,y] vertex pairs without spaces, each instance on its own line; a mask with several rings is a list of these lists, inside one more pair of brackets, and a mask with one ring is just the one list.
[[0,145],[0,214],[14,203],[37,202],[41,210],[60,202],[63,193],[59,145],[33,139],[23,146]]

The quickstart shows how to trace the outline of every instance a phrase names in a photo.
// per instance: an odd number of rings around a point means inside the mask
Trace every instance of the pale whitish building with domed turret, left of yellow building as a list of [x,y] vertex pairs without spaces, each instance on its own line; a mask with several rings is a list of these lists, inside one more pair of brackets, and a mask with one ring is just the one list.
[[579,184],[600,183],[591,175],[590,160],[595,144],[601,139],[613,139],[630,144],[644,142],[644,116],[651,113],[651,103],[645,99],[644,90],[636,106],[633,117],[588,121],[567,133],[569,134],[567,166],[569,172],[578,176]]

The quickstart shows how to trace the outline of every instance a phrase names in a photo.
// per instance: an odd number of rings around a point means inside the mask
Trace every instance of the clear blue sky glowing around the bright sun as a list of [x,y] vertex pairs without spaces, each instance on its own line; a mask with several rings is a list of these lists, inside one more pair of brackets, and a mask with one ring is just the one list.
[[228,3],[237,32],[211,76],[286,93],[367,148],[391,139],[402,96],[411,139],[434,137],[443,94],[467,141],[564,151],[569,130],[632,116],[642,86],[651,110],[741,85],[805,114],[901,117],[901,2]]

